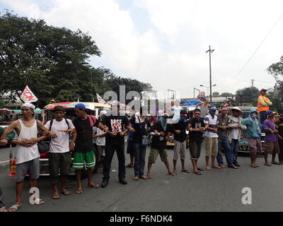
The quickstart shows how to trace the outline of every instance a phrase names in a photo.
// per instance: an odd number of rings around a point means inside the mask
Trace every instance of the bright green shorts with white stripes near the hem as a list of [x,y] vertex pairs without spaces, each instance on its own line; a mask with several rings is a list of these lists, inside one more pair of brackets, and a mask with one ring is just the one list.
[[86,162],[86,169],[94,168],[94,165],[96,165],[96,160],[93,155],[93,150],[86,153],[74,153],[73,169],[83,169],[84,162]]

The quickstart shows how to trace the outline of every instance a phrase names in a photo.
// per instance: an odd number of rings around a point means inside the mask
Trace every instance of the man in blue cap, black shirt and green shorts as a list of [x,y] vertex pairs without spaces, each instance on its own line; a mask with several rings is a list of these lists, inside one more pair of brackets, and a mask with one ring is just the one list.
[[108,128],[103,126],[96,117],[86,114],[86,106],[79,103],[75,106],[75,113],[77,118],[74,119],[73,124],[75,126],[76,133],[74,133],[74,141],[76,143],[70,144],[70,149],[74,150],[74,162],[73,168],[76,172],[76,182],[78,188],[76,194],[82,193],[81,184],[81,170],[86,162],[86,169],[88,171],[88,186],[97,189],[99,184],[92,182],[93,167],[95,165],[95,159],[93,154],[93,126],[98,126],[101,130],[108,132]]

